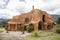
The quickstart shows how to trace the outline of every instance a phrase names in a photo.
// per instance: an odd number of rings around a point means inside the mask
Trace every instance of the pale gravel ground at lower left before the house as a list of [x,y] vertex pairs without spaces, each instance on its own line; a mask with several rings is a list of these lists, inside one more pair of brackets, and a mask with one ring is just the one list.
[[22,32],[9,32],[6,33],[5,31],[0,33],[0,40],[25,40],[25,37],[30,35],[31,33],[22,34]]

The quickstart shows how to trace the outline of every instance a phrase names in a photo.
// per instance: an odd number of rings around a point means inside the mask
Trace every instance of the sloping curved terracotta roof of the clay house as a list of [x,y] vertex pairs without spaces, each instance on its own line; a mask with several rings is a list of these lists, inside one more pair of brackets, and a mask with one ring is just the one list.
[[[30,12],[14,16],[10,20],[10,22],[8,22],[8,23],[10,23],[10,24],[12,24],[12,23],[22,23],[22,24],[26,24],[26,25],[28,25],[30,23],[33,23],[33,24],[38,23],[39,21],[42,21],[42,15],[43,14],[47,15],[48,18],[51,18],[50,15],[47,12],[33,8],[33,10],[31,10]],[[30,22],[25,23],[25,18],[29,18]]]

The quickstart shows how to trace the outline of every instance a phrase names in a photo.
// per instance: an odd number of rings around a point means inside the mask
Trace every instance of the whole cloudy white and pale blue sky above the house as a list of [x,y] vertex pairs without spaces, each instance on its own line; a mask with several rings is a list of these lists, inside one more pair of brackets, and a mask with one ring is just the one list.
[[0,0],[0,18],[12,18],[34,8],[60,15],[60,0]]

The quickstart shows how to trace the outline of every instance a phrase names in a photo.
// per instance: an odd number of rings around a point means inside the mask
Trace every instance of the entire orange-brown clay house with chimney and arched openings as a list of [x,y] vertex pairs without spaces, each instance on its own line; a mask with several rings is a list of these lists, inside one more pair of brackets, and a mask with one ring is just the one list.
[[22,25],[24,30],[26,30],[28,25],[32,25],[34,30],[51,30],[56,28],[56,23],[52,17],[46,11],[34,9],[34,6],[28,13],[13,16],[8,21],[8,25],[9,31],[18,31],[20,25]]

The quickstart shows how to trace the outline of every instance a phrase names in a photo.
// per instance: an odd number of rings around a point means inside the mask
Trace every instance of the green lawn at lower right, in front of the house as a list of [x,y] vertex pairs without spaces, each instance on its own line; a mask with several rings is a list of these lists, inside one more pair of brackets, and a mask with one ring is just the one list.
[[[60,24],[57,25],[57,28],[60,27]],[[26,40],[60,40],[60,34],[55,32],[56,30],[41,31],[39,37],[28,36]]]

